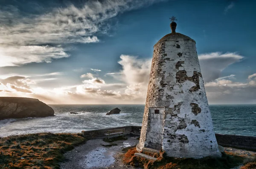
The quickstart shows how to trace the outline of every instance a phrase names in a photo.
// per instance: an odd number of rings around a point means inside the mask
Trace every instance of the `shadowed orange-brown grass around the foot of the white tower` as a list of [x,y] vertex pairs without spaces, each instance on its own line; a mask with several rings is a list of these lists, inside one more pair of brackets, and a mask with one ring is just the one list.
[[[140,166],[144,169],[230,169],[244,162],[244,157],[222,154],[221,158],[170,158],[164,152],[160,152],[156,161],[134,156],[136,148],[128,150],[123,162],[132,166]],[[256,161],[249,161],[241,169],[256,169]],[[251,167],[251,168],[249,168]],[[253,168],[254,167],[254,168]]]

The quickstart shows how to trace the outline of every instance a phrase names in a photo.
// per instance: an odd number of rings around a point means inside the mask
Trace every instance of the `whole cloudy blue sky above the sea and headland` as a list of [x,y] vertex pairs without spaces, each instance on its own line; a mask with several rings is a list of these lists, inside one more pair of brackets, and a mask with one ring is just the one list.
[[0,96],[144,104],[153,46],[196,41],[209,104],[256,103],[256,1],[0,0]]

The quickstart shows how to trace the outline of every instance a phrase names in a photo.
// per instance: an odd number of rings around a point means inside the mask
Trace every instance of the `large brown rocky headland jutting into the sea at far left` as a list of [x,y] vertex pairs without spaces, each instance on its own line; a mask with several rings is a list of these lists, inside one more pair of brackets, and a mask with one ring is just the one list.
[[38,99],[0,97],[0,120],[5,118],[54,116],[54,110]]

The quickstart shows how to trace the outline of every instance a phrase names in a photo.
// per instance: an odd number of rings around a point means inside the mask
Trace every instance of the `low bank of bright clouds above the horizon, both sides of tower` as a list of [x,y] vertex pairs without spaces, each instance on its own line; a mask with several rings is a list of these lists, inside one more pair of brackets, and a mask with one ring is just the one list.
[[[199,55],[209,103],[256,103],[256,73],[247,75],[244,82],[235,81],[235,74],[221,76],[221,71],[243,58],[236,53],[213,52]],[[120,71],[110,75],[120,83],[107,83],[91,74],[92,76],[88,75],[89,80],[83,80],[79,85],[50,90],[34,87],[38,82],[29,79],[32,77],[12,76],[0,80],[0,93],[38,97],[46,103],[59,104],[145,103],[151,59],[121,55],[118,63],[122,66]],[[87,77],[87,74],[84,76]]]

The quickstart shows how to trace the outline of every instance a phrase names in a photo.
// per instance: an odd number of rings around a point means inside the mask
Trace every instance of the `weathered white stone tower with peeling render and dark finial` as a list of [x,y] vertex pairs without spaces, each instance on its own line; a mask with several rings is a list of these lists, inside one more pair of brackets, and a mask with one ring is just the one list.
[[154,45],[137,150],[163,150],[170,157],[220,156],[195,40],[172,33]]

